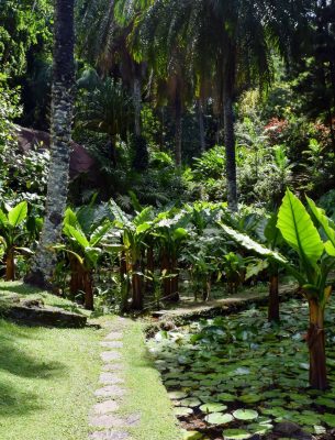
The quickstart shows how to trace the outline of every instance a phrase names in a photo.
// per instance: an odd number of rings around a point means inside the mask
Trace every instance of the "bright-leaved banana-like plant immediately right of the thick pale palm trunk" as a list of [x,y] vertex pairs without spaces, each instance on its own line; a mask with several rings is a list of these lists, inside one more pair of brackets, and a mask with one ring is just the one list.
[[76,213],[68,208],[65,212],[63,228],[67,242],[54,246],[69,255],[71,294],[83,292],[85,307],[88,310],[94,309],[93,271],[103,252],[101,241],[111,228],[111,221],[104,219],[99,226],[93,223],[90,232],[87,232],[80,222],[80,210]]

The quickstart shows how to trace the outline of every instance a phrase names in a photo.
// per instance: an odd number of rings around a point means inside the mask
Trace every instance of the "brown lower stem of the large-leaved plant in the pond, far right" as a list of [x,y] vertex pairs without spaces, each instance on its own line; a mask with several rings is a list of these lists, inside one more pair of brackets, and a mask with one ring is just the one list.
[[312,388],[327,388],[325,338],[324,338],[324,308],[314,299],[310,304],[310,329],[306,342],[310,350],[310,385]]

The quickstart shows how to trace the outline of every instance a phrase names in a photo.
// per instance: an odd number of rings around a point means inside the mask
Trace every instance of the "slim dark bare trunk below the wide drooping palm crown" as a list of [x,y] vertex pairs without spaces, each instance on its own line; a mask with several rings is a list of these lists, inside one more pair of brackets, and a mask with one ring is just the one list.
[[226,95],[224,100],[224,143],[226,160],[226,183],[228,209],[236,212],[237,207],[237,182],[236,182],[236,151],[234,131],[233,100]]

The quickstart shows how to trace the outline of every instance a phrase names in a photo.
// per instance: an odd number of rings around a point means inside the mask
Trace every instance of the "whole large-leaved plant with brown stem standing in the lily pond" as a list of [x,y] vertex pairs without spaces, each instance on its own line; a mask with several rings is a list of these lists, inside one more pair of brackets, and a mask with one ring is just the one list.
[[[295,265],[249,237],[223,223],[220,224],[230,238],[247,250],[283,266],[298,280],[300,292],[309,301],[310,308],[310,327],[306,336],[310,351],[310,385],[316,389],[325,389],[327,376],[324,311],[332,293],[327,278],[335,266],[335,226],[309,198],[308,205],[313,219],[302,202],[287,189],[278,212],[277,228],[289,246],[297,252],[299,263]],[[325,242],[315,224],[323,230]]]

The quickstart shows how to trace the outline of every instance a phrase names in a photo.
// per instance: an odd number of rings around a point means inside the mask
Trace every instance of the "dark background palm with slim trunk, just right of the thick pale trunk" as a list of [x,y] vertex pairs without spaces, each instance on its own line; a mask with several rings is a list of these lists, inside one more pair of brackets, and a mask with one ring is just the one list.
[[131,90],[134,117],[134,167],[148,165],[146,143],[142,138],[142,82],[146,75],[144,63],[137,63],[127,48],[134,16],[120,23],[115,18],[113,0],[79,0],[77,6],[78,47],[101,76],[121,77]]

